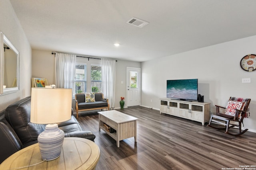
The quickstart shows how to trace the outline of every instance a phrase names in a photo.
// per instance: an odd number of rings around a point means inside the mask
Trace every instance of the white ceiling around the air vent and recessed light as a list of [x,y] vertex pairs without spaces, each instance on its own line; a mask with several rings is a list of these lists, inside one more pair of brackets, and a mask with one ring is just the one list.
[[148,61],[256,35],[256,0],[10,2],[32,49]]

